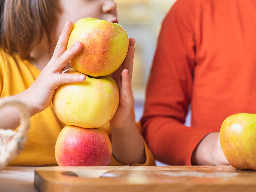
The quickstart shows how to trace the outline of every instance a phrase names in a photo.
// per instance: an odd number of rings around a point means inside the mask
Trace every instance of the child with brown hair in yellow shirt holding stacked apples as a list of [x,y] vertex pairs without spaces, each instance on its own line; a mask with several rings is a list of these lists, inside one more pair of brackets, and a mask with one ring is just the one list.
[[[65,125],[56,117],[51,101],[59,85],[86,81],[84,75],[62,73],[82,49],[81,42],[77,42],[67,50],[67,41],[73,22],[84,17],[117,22],[116,4],[112,0],[1,1],[0,98],[25,103],[31,116],[28,140],[10,165],[56,165],[54,146]],[[119,86],[120,103],[115,116],[103,127],[108,133],[111,128],[110,165],[154,164],[140,134],[140,124],[136,125],[132,115],[134,43],[135,39],[130,38],[126,59],[112,74]],[[0,116],[2,129],[19,126],[16,109],[1,109]]]

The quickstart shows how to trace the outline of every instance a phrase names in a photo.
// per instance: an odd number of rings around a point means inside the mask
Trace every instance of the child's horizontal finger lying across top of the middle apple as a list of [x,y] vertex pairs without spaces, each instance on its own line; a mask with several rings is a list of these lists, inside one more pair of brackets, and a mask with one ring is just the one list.
[[55,85],[61,85],[65,83],[79,83],[83,82],[85,80],[85,75],[79,75],[79,74],[68,74],[68,73],[60,73],[53,75],[52,82]]

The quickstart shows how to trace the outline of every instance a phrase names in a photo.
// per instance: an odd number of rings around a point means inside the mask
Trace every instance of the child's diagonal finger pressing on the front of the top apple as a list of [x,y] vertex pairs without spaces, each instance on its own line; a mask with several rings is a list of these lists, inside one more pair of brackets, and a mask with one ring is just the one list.
[[68,50],[66,50],[58,59],[56,59],[53,63],[52,72],[58,72],[62,68],[64,68],[68,61],[70,61],[78,52],[80,52],[83,48],[83,44],[81,42],[77,42]]

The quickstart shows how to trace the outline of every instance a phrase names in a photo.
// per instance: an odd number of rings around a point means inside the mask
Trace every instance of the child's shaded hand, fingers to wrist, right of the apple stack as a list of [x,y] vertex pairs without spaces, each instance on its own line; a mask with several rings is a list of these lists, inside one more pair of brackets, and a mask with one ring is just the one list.
[[133,57],[135,51],[134,44],[135,39],[130,38],[129,49],[124,62],[113,74],[110,75],[116,81],[120,92],[119,105],[116,114],[110,121],[111,127],[121,128],[124,126],[125,122],[131,118],[131,111],[133,106],[131,80]]

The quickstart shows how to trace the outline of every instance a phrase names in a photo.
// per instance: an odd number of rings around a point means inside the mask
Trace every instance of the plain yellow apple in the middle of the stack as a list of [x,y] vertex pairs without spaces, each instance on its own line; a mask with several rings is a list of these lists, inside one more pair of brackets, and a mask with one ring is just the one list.
[[[81,74],[75,69],[65,73]],[[60,85],[52,98],[57,117],[65,124],[83,128],[98,128],[115,115],[119,90],[110,76],[91,78],[84,82]]]

